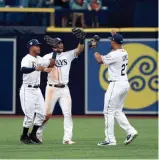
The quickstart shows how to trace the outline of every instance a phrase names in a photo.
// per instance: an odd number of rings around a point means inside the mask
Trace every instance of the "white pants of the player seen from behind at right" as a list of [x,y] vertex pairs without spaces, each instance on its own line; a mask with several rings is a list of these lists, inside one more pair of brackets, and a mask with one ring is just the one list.
[[128,119],[123,113],[124,101],[129,90],[128,81],[110,82],[105,93],[104,117],[105,117],[105,140],[110,143],[116,142],[114,136],[114,117],[126,134],[135,132]]

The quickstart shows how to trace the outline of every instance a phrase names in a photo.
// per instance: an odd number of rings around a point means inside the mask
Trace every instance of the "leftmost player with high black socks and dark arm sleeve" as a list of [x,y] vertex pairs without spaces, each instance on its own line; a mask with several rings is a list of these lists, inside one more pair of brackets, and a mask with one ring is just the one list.
[[[41,141],[36,137],[39,126],[45,120],[44,98],[42,96],[40,86],[40,73],[45,71],[45,67],[53,67],[55,59],[43,60],[40,56],[40,43],[37,39],[28,42],[27,54],[21,61],[21,71],[23,73],[23,83],[20,89],[20,101],[22,110],[25,114],[23,121],[23,133],[20,141],[24,144],[37,143]],[[34,124],[32,132],[28,136],[28,130]]]

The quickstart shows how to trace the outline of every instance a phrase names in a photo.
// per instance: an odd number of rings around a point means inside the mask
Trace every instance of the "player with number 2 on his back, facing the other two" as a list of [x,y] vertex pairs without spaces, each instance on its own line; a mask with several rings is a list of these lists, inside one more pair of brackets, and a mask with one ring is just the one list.
[[107,55],[101,55],[97,52],[97,45],[100,40],[95,35],[90,41],[90,47],[94,51],[94,57],[99,64],[108,66],[109,86],[104,98],[104,118],[105,118],[105,141],[98,143],[98,146],[116,145],[114,136],[114,117],[120,127],[125,130],[127,137],[124,144],[130,144],[138,132],[133,128],[127,120],[122,109],[124,100],[129,90],[129,82],[127,77],[128,53],[122,48],[122,35],[112,32],[111,40],[112,51]]

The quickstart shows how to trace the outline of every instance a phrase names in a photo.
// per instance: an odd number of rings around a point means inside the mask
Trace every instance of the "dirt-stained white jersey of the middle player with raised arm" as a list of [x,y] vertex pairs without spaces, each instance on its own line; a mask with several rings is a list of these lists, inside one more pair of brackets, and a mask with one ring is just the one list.
[[[46,54],[43,59],[50,59],[52,53]],[[50,73],[48,73],[48,84],[67,84],[69,82],[69,71],[71,62],[77,58],[75,49],[67,52],[57,54],[55,66]]]

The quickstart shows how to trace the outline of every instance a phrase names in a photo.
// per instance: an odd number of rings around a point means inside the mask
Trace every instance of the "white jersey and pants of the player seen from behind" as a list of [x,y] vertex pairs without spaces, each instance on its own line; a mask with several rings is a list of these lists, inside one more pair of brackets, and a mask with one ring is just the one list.
[[108,80],[112,81],[108,86],[104,98],[105,141],[116,145],[114,118],[127,135],[136,132],[122,112],[130,86],[126,73],[128,53],[124,49],[117,49],[101,57],[103,63],[108,65]]

